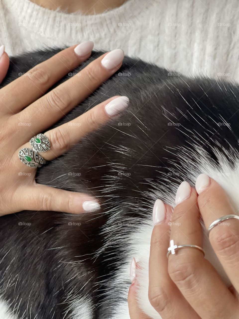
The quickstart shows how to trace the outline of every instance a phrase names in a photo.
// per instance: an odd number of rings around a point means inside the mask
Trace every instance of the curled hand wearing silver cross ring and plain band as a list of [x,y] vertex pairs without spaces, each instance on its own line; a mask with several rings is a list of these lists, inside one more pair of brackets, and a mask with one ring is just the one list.
[[232,289],[225,286],[199,249],[181,248],[175,255],[166,256],[170,240],[176,245],[202,247],[200,216],[208,228],[216,219],[235,214],[226,193],[212,178],[199,175],[196,190],[187,182],[179,186],[171,221],[170,207],[161,200],[156,201],[149,258],[149,301],[163,319],[236,319],[239,318],[237,219],[214,226],[209,234]]

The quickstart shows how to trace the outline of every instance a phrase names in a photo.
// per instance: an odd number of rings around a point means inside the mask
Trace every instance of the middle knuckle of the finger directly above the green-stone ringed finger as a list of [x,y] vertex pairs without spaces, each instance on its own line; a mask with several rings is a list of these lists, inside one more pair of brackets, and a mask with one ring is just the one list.
[[68,110],[70,105],[70,98],[67,92],[63,90],[52,90],[47,95],[47,103],[50,104],[51,107],[58,108],[62,112],[64,110]]

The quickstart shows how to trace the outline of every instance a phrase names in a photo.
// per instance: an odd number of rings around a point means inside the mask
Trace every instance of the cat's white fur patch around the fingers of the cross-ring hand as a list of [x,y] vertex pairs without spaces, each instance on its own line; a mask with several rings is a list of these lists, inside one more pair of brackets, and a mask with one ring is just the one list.
[[[178,176],[178,173],[180,173],[185,180],[191,182],[192,185],[195,185],[196,178],[199,174],[205,173],[209,175],[215,181],[217,181],[228,193],[231,198],[231,203],[235,207],[235,211],[237,211],[239,208],[239,154],[237,154],[237,151],[233,150],[233,152],[231,153],[231,149],[228,151],[222,149],[221,152],[218,152],[214,149],[214,154],[216,154],[219,161],[219,165],[215,166],[215,164],[210,161],[210,159],[202,149],[195,147],[195,150],[196,151],[193,151],[195,152],[193,154],[193,161],[189,160],[190,156],[186,157],[185,153],[183,154],[184,157],[180,159],[183,163],[183,172],[178,172],[177,167],[175,168],[175,173],[177,173],[175,174],[175,176]],[[189,154],[190,152],[188,149],[185,151],[187,154]],[[231,154],[234,154],[235,158],[238,159],[235,160],[234,157],[232,158]],[[231,161],[234,163],[234,168],[231,167],[227,158],[231,159]],[[174,206],[174,196],[178,186],[179,181],[175,179],[175,184],[171,185],[173,191],[169,192],[167,189],[164,189],[164,193],[162,193],[158,190],[158,185],[156,185],[155,192],[147,194],[152,198],[152,208],[156,198],[161,198],[167,204]],[[137,209],[140,210],[140,208],[136,208],[136,210]],[[124,247],[125,249],[127,249],[127,251],[125,252],[127,263],[124,264],[121,269],[119,269],[117,273],[117,279],[114,281],[114,283],[112,283],[112,290],[114,289],[113,287],[115,285],[117,286],[118,283],[120,284],[122,282],[125,282],[126,278],[129,276],[131,258],[135,257],[136,261],[140,263],[140,266],[142,268],[140,270],[137,270],[137,280],[140,285],[137,296],[139,305],[148,316],[154,319],[162,319],[161,316],[156,312],[156,310],[150,305],[150,302],[148,300],[148,259],[150,250],[150,237],[153,229],[151,213],[152,212],[150,211],[148,214],[148,219],[144,221],[144,225],[141,225],[140,227],[136,226],[134,228],[134,231],[132,232],[132,236],[130,238],[128,238],[126,235]],[[218,273],[223,278],[225,284],[229,286],[230,281],[209,243],[205,226],[204,249],[206,259],[208,259],[214,265]],[[124,296],[125,300],[127,300],[127,293],[128,290],[126,289]],[[115,311],[113,319],[130,318],[127,302],[122,303],[122,301],[120,301],[116,305],[116,309],[117,310]]]

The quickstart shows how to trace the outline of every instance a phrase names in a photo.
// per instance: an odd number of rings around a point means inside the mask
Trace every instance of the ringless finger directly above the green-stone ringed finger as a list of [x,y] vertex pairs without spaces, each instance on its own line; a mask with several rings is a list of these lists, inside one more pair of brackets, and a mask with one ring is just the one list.
[[[108,54],[100,56],[92,61],[76,76],[58,85],[55,89],[31,104],[18,115],[18,121],[31,122],[31,129],[39,133],[62,116],[66,115],[72,108],[82,102],[88,95],[93,93],[99,85],[108,79],[122,64],[123,50],[116,49]],[[113,69],[106,69],[104,61],[111,59]],[[24,129],[24,128],[23,128]],[[25,137],[32,137],[33,132],[25,127]]]

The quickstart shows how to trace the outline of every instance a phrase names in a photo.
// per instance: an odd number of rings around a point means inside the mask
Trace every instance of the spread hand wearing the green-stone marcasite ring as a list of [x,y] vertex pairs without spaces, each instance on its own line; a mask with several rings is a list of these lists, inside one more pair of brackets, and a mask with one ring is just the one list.
[[[124,52],[116,49],[92,61],[81,70],[80,76],[44,94],[86,60],[92,48],[91,41],[67,48],[0,90],[0,215],[22,210],[80,213],[99,208],[98,202],[86,194],[37,184],[36,169],[18,158],[20,149],[31,148],[32,137],[47,130],[120,68]],[[6,58],[4,53],[0,66],[6,64],[2,61]],[[127,105],[128,98],[112,97],[73,121],[47,131],[44,134],[50,140],[51,149],[39,154],[46,160],[54,159]]]

